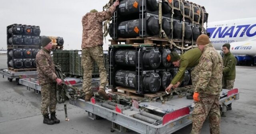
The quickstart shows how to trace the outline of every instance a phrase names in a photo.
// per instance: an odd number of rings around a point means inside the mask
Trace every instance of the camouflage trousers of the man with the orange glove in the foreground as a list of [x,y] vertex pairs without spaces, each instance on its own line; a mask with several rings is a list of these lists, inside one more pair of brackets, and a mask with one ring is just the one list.
[[199,95],[200,101],[195,102],[192,113],[192,131],[190,134],[200,134],[204,120],[209,115],[210,134],[220,134],[220,95]]

